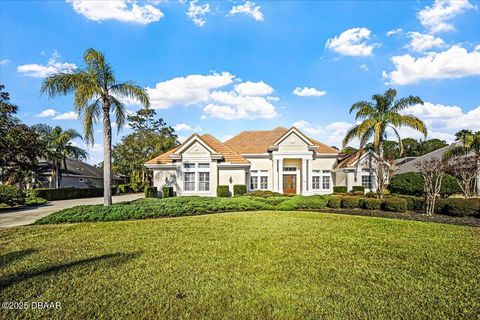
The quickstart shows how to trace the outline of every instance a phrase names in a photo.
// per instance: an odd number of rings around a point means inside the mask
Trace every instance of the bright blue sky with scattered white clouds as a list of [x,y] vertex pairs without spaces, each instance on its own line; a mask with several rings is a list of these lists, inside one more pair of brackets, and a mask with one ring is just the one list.
[[[81,131],[72,97],[50,100],[39,89],[93,47],[118,80],[147,88],[182,138],[296,125],[339,146],[355,123],[352,103],[390,87],[425,101],[407,112],[429,137],[480,130],[480,2],[2,1],[0,9],[0,82],[27,124]],[[92,163],[101,161],[95,138]]]

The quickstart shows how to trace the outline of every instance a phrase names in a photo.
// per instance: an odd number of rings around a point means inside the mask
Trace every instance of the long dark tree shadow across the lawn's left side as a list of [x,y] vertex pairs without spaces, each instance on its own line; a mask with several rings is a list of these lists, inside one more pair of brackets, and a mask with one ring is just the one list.
[[[35,249],[30,249],[32,252],[35,252],[37,250]],[[29,250],[24,250],[24,251],[29,251]],[[22,258],[23,256],[30,254],[32,252],[27,252],[25,254],[21,254],[22,251],[17,251],[17,252],[12,252],[11,255],[12,257],[10,258],[10,261],[13,261],[18,258]],[[6,254],[4,256],[7,256],[10,254]],[[2,256],[2,267],[4,266],[4,256]],[[16,257],[15,257],[16,256]],[[68,271],[71,268],[78,267],[78,266],[84,266],[84,265],[94,265],[97,263],[101,263],[102,266],[106,268],[110,267],[118,267],[120,264],[123,264],[131,259],[137,258],[140,256],[140,253],[135,252],[135,253],[111,253],[111,254],[104,254],[101,256],[97,257],[91,257],[87,259],[81,259],[77,261],[72,261],[68,263],[62,263],[62,264],[57,264],[53,266],[47,266],[42,269],[36,269],[36,270],[28,270],[28,271],[23,271],[19,272],[10,276],[6,276],[3,278],[0,278],[0,288],[6,289],[12,285],[15,285],[19,282],[29,280],[31,278],[35,277],[40,277],[40,276],[48,276],[50,274],[55,274],[57,272],[64,272]]]

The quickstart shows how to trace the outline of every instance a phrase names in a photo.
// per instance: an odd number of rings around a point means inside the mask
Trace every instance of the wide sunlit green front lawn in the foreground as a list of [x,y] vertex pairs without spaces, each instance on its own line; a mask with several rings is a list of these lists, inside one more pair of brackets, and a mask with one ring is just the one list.
[[248,212],[0,230],[0,318],[452,319],[480,312],[480,229]]

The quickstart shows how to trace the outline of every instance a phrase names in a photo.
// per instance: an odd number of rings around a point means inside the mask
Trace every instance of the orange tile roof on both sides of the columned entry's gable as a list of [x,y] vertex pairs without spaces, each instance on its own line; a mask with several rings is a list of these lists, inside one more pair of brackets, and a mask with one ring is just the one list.
[[[278,127],[273,130],[242,131],[225,142],[225,145],[239,154],[267,153],[272,146],[290,129]],[[337,154],[338,150],[327,146],[315,139],[307,137],[317,147],[318,153]]]

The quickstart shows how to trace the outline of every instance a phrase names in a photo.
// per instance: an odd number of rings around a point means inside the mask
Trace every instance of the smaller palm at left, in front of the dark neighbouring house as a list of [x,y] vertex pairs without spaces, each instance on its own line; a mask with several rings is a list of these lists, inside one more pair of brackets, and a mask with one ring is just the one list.
[[58,189],[62,181],[62,163],[67,170],[67,158],[76,160],[87,158],[87,152],[72,143],[73,139],[82,139],[82,136],[74,129],[64,131],[59,126],[52,128],[46,124],[35,125],[34,130],[39,135],[43,157],[52,165],[51,183]]

